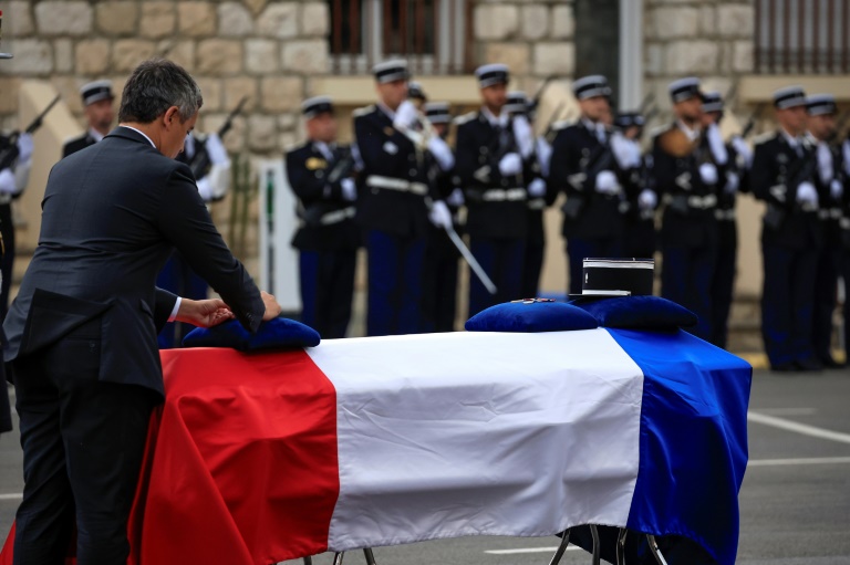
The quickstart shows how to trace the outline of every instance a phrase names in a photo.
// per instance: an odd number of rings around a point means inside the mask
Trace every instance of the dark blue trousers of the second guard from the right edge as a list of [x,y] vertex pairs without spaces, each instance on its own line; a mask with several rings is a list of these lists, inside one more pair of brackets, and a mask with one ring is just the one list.
[[811,327],[818,251],[763,243],[761,336],[771,366],[815,358]]

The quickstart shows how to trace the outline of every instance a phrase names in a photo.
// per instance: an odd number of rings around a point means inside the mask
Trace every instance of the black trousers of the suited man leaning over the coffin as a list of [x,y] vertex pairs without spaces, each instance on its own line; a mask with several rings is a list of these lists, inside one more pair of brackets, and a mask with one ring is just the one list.
[[23,448],[14,565],[124,565],[153,390],[99,380],[100,318],[12,362]]

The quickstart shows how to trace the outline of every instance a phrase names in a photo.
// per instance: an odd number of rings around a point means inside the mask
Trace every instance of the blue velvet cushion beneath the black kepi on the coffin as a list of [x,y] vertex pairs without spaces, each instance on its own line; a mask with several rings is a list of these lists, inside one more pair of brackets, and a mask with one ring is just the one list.
[[696,314],[660,296],[619,296],[598,301],[579,301],[604,327],[631,329],[675,329],[696,325]]

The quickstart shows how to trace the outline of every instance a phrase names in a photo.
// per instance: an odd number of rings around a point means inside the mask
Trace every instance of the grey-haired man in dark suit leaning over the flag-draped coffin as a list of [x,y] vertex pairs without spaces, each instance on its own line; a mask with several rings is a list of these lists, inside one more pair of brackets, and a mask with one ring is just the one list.
[[[25,481],[15,564],[61,563],[74,519],[81,564],[124,564],[147,422],[164,395],[157,326],[236,316],[253,332],[280,312],[174,159],[201,103],[186,71],[142,63],[124,88],[121,126],[51,171],[39,247],[3,324]],[[174,247],[224,302],[155,287]]]

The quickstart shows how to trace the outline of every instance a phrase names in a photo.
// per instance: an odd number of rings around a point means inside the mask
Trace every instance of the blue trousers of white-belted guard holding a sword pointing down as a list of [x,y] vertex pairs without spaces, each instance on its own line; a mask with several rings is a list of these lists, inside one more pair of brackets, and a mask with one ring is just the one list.
[[370,336],[418,333],[425,238],[370,230],[366,234],[366,333]]

